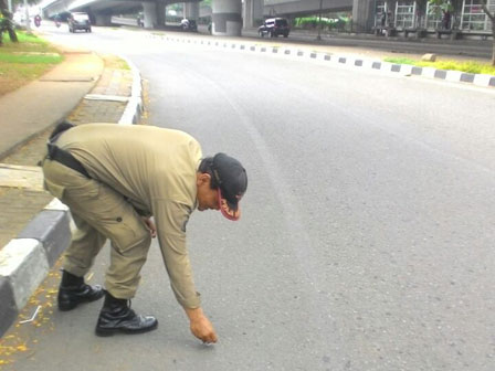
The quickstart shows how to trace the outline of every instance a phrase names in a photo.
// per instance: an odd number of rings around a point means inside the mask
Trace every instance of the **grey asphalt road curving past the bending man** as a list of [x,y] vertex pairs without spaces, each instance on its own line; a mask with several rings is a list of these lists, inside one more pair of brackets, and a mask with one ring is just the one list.
[[133,60],[149,124],[238,157],[250,186],[240,222],[188,224],[218,344],[189,333],[155,243],[133,308],[158,330],[102,339],[99,304],[55,311],[15,370],[494,369],[493,89],[54,32]]

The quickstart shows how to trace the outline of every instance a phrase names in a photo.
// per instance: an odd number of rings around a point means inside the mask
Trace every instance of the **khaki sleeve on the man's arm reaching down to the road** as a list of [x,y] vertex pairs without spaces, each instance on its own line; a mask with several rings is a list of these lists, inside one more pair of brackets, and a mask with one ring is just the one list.
[[161,255],[177,301],[185,308],[198,308],[200,298],[186,245],[186,224],[191,210],[186,204],[161,199],[152,202],[152,213]]

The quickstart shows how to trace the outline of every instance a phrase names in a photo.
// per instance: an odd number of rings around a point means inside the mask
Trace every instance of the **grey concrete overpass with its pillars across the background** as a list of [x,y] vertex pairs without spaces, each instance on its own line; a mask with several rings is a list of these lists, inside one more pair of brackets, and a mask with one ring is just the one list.
[[[87,12],[96,25],[110,25],[115,14],[143,11],[144,26],[165,25],[166,7],[185,3],[185,18],[199,18],[201,0],[53,0],[43,7],[45,17],[70,11]],[[350,11],[355,29],[366,30],[371,17],[371,0],[212,0],[212,34],[238,36],[241,29],[253,28],[264,17],[301,17],[324,12]]]

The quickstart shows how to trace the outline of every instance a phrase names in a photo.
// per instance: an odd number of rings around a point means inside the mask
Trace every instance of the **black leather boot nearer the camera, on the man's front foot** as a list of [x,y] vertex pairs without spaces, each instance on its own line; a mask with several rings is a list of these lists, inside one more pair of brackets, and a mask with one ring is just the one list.
[[138,316],[130,309],[128,299],[117,299],[108,292],[99,312],[96,335],[106,337],[115,332],[143,333],[155,330],[158,320],[152,316]]

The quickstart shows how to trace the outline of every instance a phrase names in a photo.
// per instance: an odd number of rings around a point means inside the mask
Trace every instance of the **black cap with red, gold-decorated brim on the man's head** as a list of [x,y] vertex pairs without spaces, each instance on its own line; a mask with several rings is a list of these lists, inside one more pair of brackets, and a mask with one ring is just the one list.
[[241,216],[239,201],[247,189],[245,169],[241,162],[225,153],[213,157],[211,169],[219,190],[220,211],[227,219],[236,221]]

